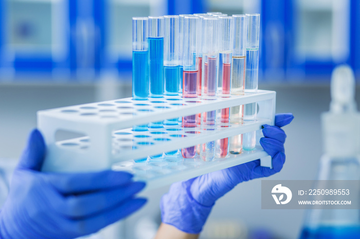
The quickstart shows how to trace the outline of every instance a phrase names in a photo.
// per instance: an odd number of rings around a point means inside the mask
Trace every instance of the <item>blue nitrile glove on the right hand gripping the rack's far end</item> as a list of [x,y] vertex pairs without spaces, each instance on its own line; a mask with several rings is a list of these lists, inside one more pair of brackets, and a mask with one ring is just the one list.
[[273,168],[260,166],[260,160],[211,172],[174,183],[161,198],[163,223],[187,233],[200,233],[215,201],[241,182],[267,177],[279,172],[285,163],[285,132],[280,127],[290,124],[293,114],[277,114],[275,126],[264,125],[260,144],[272,156]]

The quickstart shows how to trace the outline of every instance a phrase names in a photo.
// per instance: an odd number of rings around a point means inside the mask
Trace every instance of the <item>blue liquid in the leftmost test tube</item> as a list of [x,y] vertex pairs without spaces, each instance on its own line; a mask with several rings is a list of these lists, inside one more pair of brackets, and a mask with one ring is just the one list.
[[133,51],[133,98],[148,99],[149,52]]

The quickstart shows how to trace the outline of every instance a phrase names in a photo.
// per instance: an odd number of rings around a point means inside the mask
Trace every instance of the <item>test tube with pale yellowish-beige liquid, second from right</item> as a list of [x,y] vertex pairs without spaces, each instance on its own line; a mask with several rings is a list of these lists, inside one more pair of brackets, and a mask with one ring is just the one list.
[[[231,95],[244,94],[245,62],[246,62],[246,15],[233,16],[233,47],[232,47],[232,73],[231,73]],[[244,106],[234,106],[230,109],[230,123],[242,124]],[[239,154],[242,152],[243,135],[235,135],[229,138],[229,152]]]

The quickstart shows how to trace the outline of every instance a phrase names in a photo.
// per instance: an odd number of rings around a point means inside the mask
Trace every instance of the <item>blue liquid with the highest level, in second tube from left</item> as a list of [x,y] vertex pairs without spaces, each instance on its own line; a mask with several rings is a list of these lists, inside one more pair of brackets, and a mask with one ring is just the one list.
[[164,96],[164,37],[149,37],[150,97]]

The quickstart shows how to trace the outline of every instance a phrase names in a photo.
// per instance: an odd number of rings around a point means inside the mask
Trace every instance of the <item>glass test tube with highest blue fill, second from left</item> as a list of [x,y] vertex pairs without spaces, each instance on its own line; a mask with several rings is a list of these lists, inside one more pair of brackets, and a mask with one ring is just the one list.
[[[149,16],[149,81],[150,97],[164,97],[164,17]],[[149,128],[162,128],[163,122],[149,123]]]

